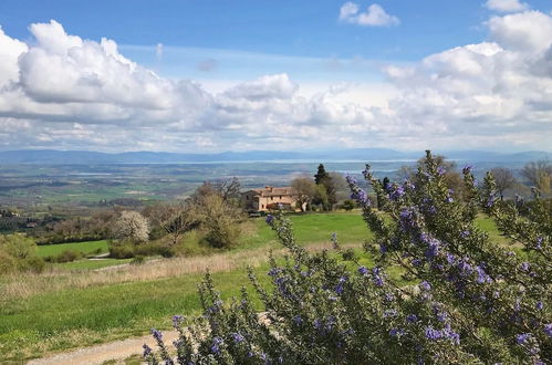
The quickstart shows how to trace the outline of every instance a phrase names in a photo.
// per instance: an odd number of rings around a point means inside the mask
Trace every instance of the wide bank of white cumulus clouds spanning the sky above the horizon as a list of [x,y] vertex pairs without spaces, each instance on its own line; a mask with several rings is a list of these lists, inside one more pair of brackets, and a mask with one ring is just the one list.
[[[354,3],[342,13],[360,17]],[[0,30],[0,148],[544,148],[552,17],[524,11],[486,27],[486,42],[386,66],[385,84],[311,85],[309,96],[285,73],[209,93],[55,21],[31,25],[29,44]]]

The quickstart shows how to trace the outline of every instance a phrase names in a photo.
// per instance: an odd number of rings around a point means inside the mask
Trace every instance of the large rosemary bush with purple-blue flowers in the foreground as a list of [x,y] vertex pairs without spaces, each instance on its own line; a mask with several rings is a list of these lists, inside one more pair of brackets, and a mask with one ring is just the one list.
[[[499,201],[492,176],[476,188],[464,169],[459,201],[445,170],[428,153],[410,181],[384,190],[364,171],[386,217],[348,178],[353,197],[376,234],[366,250],[376,265],[360,264],[354,251],[310,254],[295,243],[281,216],[267,221],[289,251],[271,260],[273,290],[250,279],[263,303],[259,315],[246,290],[223,304],[210,277],[200,285],[204,315],[175,316],[179,364],[424,364],[533,363],[552,358],[550,206]],[[489,241],[475,223],[479,209],[519,244],[519,254]],[[403,272],[404,285],[389,272]],[[159,344],[144,346],[149,364],[175,358]]]

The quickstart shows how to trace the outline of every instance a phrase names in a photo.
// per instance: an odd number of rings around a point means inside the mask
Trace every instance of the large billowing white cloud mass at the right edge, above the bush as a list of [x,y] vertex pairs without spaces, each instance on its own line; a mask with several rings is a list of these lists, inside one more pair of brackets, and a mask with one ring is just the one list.
[[[410,67],[388,67],[402,90],[390,102],[410,126],[447,135],[486,136],[544,144],[552,129],[550,63],[552,18],[541,12],[496,17],[488,22],[489,42],[433,54]],[[416,122],[419,121],[419,122]],[[506,137],[508,135],[508,137]],[[523,138],[521,138],[523,136]],[[476,140],[472,139],[472,140]]]

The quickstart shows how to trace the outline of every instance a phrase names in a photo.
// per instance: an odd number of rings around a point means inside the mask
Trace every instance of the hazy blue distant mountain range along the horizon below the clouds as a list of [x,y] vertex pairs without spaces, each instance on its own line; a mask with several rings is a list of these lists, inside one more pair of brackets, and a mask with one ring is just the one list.
[[[462,161],[525,163],[550,159],[551,153],[530,150],[515,154],[482,150],[436,152],[447,158]],[[129,152],[107,154],[87,150],[24,149],[0,152],[0,165],[96,165],[96,164],[194,164],[239,161],[376,161],[415,160],[423,152],[398,152],[386,148],[354,148],[333,152],[274,152],[249,150],[217,154],[178,154],[163,152]]]

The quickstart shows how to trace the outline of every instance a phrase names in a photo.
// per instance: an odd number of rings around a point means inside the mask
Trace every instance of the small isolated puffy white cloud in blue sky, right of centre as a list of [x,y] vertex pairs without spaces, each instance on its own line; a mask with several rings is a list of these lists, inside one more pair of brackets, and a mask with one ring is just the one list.
[[365,27],[392,27],[400,23],[397,17],[389,15],[377,3],[371,4],[366,12],[360,12],[358,4],[351,1],[345,2],[341,7],[340,20],[346,23]]

